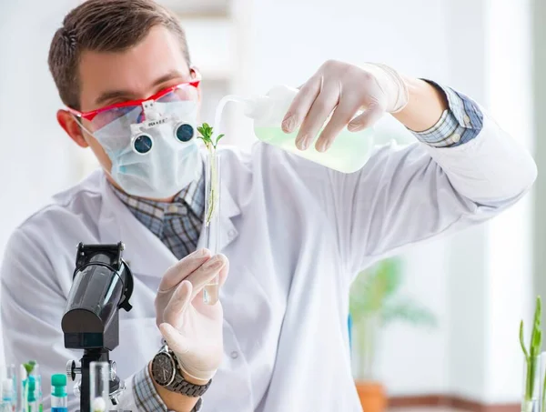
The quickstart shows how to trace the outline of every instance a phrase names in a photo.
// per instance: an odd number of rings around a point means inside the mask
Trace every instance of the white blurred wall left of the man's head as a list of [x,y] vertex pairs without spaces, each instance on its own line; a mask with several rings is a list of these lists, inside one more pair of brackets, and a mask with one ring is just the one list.
[[61,102],[47,69],[49,42],[68,3],[0,5],[0,256],[17,222],[75,181],[75,145],[56,123]]

